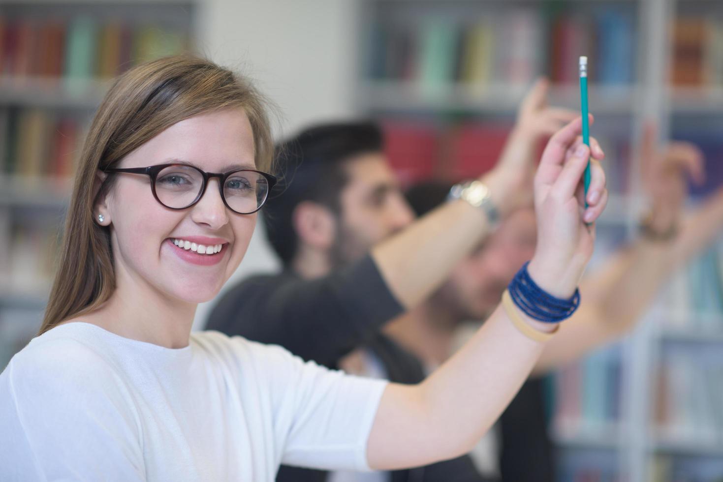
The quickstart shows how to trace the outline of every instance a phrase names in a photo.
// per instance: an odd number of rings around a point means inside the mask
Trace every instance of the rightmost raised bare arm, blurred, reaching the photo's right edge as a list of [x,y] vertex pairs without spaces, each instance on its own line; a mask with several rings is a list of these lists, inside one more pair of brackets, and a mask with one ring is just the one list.
[[683,217],[688,175],[697,182],[703,178],[703,157],[695,146],[673,142],[659,152],[649,127],[642,154],[651,197],[651,215],[646,220],[649,234],[638,236],[583,280],[586,304],[547,344],[536,372],[572,361],[630,330],[675,270],[714,241],[723,228],[723,189]]

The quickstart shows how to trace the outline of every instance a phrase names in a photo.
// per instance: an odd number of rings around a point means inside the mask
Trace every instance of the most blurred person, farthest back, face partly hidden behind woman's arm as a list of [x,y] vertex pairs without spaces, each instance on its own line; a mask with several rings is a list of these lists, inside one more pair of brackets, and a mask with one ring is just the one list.
[[[692,212],[683,212],[688,176],[696,183],[703,181],[700,150],[687,142],[672,142],[658,152],[654,139],[654,129],[648,126],[641,165],[650,209],[641,220],[639,236],[583,279],[581,293],[590,302],[547,345],[536,363],[535,375],[547,374],[628,332],[670,275],[711,244],[723,228],[723,188]],[[424,215],[445,202],[450,187],[439,182],[419,184],[409,189],[407,198],[416,214]],[[463,323],[484,319],[494,309],[506,283],[533,257],[535,249],[534,210],[523,207],[458,263],[432,296],[388,324],[372,345],[391,347],[385,359],[387,366],[408,365],[410,358],[417,358],[424,370],[417,371],[416,377],[423,379],[453,353]],[[357,356],[369,359],[368,353]],[[356,372],[364,370],[358,368]],[[480,447],[482,454],[476,451],[482,455],[486,473],[501,469],[505,480],[552,480],[515,463],[518,454],[531,447],[552,455],[543,408],[542,380],[533,377],[505,410],[497,430],[490,432],[497,436]],[[498,453],[490,455],[490,447]],[[500,460],[499,467],[489,460]],[[538,468],[552,464],[552,460],[539,462]]]

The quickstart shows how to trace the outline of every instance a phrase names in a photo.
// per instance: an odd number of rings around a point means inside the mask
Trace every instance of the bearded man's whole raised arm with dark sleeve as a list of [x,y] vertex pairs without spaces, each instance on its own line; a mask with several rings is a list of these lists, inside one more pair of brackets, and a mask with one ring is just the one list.
[[[574,117],[547,106],[546,97],[547,82],[540,80],[521,103],[497,166],[481,178],[502,216],[531,202],[539,139]],[[593,155],[602,158],[596,144]],[[218,301],[207,327],[333,365],[427,298],[489,232],[482,210],[463,201],[443,205],[375,246],[369,257],[329,275],[283,285],[262,277],[245,281]]]

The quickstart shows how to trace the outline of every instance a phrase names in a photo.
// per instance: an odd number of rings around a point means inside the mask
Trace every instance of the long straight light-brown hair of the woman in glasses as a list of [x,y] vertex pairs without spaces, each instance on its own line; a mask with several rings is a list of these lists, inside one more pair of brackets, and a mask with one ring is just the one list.
[[242,108],[254,137],[257,168],[269,171],[273,139],[268,101],[248,79],[195,56],[171,56],[122,74],[108,90],[85,139],[63,233],[59,266],[39,335],[98,308],[115,289],[108,228],[93,219],[98,169],[112,167],[168,127],[189,117]]

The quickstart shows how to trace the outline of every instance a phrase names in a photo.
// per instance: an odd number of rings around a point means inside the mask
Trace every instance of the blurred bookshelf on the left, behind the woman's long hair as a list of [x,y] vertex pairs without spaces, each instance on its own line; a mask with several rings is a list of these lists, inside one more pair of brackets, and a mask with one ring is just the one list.
[[192,49],[195,17],[194,1],[0,4],[0,367],[40,326],[93,111],[117,74]]

